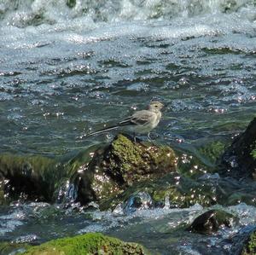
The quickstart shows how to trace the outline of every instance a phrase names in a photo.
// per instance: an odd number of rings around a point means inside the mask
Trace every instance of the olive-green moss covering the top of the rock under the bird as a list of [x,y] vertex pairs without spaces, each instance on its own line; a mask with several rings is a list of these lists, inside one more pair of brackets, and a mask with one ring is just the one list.
[[172,148],[135,143],[123,135],[112,142],[106,161],[113,176],[121,175],[125,183],[143,180],[149,173],[160,175],[176,168]]

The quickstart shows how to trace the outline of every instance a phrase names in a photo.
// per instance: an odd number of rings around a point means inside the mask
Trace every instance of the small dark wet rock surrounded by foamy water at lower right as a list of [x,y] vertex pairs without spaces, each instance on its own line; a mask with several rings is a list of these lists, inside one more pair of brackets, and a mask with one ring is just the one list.
[[199,234],[212,234],[221,228],[230,228],[236,217],[221,210],[209,210],[196,217],[188,230]]

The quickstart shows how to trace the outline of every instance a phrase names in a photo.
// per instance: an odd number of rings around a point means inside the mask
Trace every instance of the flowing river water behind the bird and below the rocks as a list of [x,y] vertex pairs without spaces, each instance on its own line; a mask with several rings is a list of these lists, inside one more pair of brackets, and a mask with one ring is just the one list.
[[[61,157],[89,148],[113,134],[81,136],[152,99],[166,105],[158,142],[190,151],[230,142],[255,112],[255,38],[253,0],[0,0],[0,152]],[[253,206],[225,209],[255,223]],[[228,254],[227,233],[170,234],[202,210],[125,216],[14,204],[0,208],[0,236],[40,243],[101,231],[154,252]]]

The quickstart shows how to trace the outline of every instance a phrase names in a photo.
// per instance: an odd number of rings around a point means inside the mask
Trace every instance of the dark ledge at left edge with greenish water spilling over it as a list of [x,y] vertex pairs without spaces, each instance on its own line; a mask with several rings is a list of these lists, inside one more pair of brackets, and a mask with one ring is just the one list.
[[0,204],[11,200],[52,202],[63,165],[42,156],[0,155]]

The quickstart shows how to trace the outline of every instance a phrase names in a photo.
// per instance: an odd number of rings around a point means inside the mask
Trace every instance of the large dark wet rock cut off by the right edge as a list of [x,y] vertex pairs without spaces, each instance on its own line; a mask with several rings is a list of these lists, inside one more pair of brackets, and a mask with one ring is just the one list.
[[225,150],[220,168],[225,175],[256,180],[256,118]]

